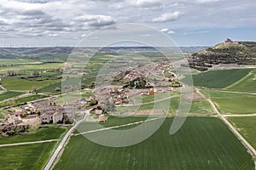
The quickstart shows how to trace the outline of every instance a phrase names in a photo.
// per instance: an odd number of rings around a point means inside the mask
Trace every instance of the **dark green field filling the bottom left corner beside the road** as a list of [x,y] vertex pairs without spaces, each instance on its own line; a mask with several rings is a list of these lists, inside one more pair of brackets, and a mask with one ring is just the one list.
[[1,170],[43,169],[55,142],[0,147]]

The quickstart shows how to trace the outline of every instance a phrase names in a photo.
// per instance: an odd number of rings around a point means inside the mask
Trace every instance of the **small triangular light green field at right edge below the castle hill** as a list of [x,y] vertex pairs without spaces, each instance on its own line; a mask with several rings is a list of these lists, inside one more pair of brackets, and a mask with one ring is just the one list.
[[256,71],[252,71],[246,77],[241,78],[241,80],[233,83],[226,89],[234,91],[244,91],[244,92],[256,92]]

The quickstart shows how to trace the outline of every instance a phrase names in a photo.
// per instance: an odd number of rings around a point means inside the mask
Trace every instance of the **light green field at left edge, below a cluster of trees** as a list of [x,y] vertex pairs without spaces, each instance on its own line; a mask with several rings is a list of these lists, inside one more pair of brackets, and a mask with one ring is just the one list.
[[60,80],[29,81],[19,77],[5,77],[1,82],[3,87],[9,88],[9,90],[32,91],[32,88],[43,88],[51,83],[60,82]]

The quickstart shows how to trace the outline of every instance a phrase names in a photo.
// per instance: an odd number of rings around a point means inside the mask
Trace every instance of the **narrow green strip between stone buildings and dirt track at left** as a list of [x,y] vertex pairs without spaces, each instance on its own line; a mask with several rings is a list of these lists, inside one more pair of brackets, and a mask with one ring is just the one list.
[[0,144],[14,144],[39,140],[59,139],[61,137],[61,134],[64,133],[66,130],[66,127],[38,128],[35,133],[20,134],[12,137],[0,137]]

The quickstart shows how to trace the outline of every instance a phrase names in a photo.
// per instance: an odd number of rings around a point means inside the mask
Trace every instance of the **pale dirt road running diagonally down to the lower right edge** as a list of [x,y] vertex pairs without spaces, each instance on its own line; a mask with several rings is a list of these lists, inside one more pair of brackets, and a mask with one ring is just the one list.
[[[197,93],[201,94],[201,92],[195,88],[195,90],[197,91]],[[201,96],[203,96],[205,99],[207,99],[203,94],[201,94]],[[238,139],[241,140],[241,142],[249,149],[251,150],[251,152],[253,153],[254,156],[256,156],[256,150],[253,148],[253,146],[251,144],[249,144],[247,142],[246,139],[244,139],[240,133],[237,132],[236,127],[233,127],[233,125],[225,118],[224,115],[221,115],[218,111],[218,109],[216,108],[216,106],[213,104],[211,99],[207,99],[208,102],[212,105],[212,109],[213,111],[215,111],[216,113],[218,113],[218,116],[223,120],[223,122],[230,127],[230,130],[238,137]]]

